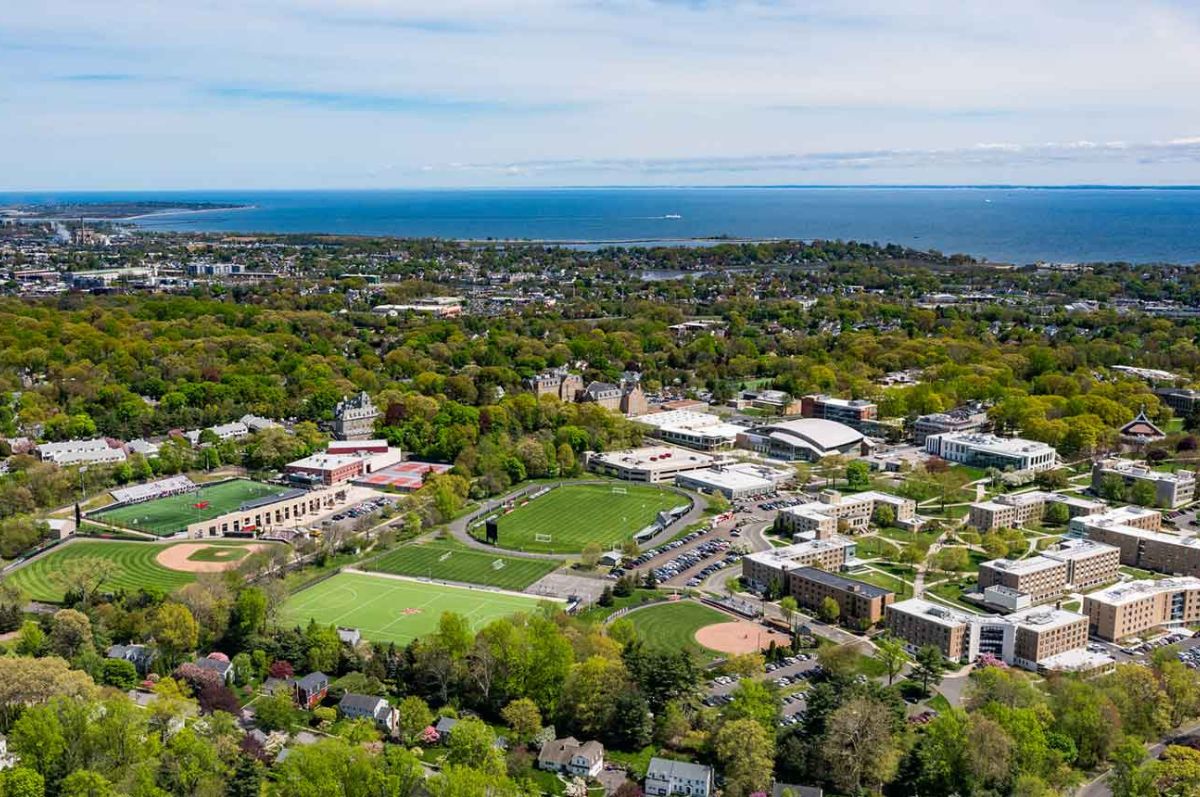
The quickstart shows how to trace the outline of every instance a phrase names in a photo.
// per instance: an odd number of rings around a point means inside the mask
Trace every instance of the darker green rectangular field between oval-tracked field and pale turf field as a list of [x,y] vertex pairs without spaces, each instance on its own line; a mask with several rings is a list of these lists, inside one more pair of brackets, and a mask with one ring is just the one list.
[[362,569],[400,576],[481,583],[520,592],[558,565],[558,562],[548,559],[498,556],[493,551],[478,551],[455,540],[437,540],[403,545],[365,563]]

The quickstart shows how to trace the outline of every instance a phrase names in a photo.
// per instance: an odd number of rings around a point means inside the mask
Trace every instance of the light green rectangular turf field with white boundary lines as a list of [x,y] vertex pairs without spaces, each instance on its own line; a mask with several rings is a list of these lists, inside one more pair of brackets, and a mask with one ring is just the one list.
[[539,599],[486,589],[448,587],[383,575],[340,573],[293,595],[282,623],[356,628],[371,641],[407,645],[437,629],[443,612],[464,616],[479,629],[497,617],[538,609]]

